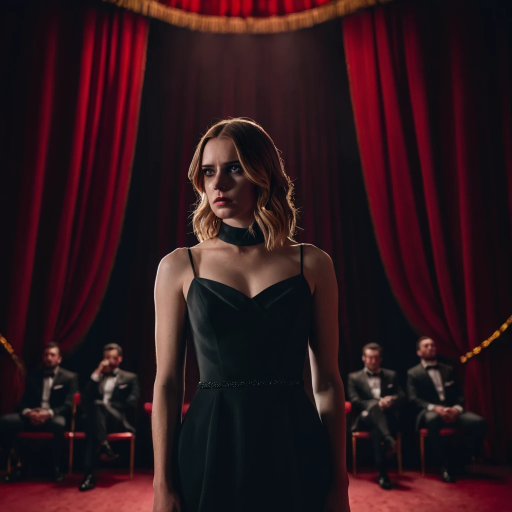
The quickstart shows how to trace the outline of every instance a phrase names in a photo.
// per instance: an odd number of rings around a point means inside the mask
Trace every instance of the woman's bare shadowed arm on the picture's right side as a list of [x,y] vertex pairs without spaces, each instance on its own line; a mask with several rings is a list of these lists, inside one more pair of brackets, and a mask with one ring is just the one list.
[[326,426],[333,457],[333,485],[326,502],[327,510],[347,512],[348,475],[346,464],[345,390],[338,369],[338,287],[332,260],[314,247],[307,266],[311,269],[313,321],[309,336],[309,360],[313,395],[318,414]]

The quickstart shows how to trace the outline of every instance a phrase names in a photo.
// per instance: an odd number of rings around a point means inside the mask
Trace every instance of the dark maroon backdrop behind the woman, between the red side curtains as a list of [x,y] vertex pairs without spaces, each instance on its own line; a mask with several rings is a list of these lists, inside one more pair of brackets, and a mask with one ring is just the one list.
[[[194,33],[152,21],[116,263],[87,338],[64,361],[80,373],[83,386],[104,344],[123,347],[122,367],[138,373],[142,386],[139,465],[152,464],[150,424],[142,403],[152,399],[155,376],[157,267],[168,252],[197,243],[189,223],[196,198],[188,166],[201,134],[228,116],[250,117],[272,137],[301,209],[296,240],[315,244],[334,261],[342,377],[362,366],[360,349],[373,341],[385,348],[385,366],[397,370],[402,380],[417,362],[417,335],[395,301],[375,243],[340,20],[276,35]],[[189,347],[186,401],[194,396],[198,380]]]

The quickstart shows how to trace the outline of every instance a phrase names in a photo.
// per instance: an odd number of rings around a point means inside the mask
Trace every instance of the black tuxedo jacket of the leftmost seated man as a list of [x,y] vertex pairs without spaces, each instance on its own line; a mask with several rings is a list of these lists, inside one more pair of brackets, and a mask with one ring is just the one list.
[[[17,410],[34,409],[41,407],[43,371],[38,370],[27,375],[25,392],[17,405]],[[78,376],[76,373],[59,367],[59,371],[53,379],[50,392],[50,408],[55,416],[64,416],[67,421],[71,418],[73,409],[73,396],[78,391]]]

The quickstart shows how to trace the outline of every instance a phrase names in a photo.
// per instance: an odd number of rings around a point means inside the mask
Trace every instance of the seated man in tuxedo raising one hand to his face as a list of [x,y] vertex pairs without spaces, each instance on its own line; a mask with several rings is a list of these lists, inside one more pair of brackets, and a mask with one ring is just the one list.
[[87,445],[84,477],[79,490],[93,489],[96,485],[94,469],[98,455],[102,460],[117,457],[107,434],[134,432],[135,412],[140,396],[139,379],[135,373],[119,368],[123,351],[116,343],[103,347],[103,359],[91,374],[82,405],[87,417]]

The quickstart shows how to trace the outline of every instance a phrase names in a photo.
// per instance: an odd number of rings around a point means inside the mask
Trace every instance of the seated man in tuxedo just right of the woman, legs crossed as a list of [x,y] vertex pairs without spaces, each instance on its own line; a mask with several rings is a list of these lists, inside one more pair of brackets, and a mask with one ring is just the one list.
[[352,402],[352,431],[371,432],[378,471],[377,481],[383,489],[391,489],[386,471],[386,455],[396,451],[398,412],[406,401],[396,372],[381,368],[382,347],[369,343],[362,348],[365,368],[350,373],[347,396]]

